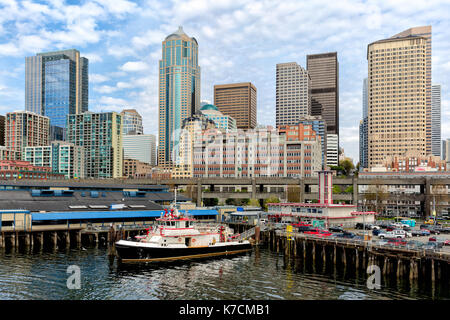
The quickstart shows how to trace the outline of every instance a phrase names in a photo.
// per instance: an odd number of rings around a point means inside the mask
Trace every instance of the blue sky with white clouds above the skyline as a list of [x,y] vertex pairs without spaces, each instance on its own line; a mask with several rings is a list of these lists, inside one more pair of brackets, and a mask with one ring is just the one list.
[[215,84],[258,91],[258,123],[275,124],[275,66],[338,53],[340,142],[358,161],[367,45],[433,27],[433,83],[442,85],[442,138],[450,138],[449,0],[0,0],[0,114],[24,109],[25,57],[76,48],[89,59],[89,109],[137,109],[157,134],[161,42],[183,26],[199,43],[201,98]]

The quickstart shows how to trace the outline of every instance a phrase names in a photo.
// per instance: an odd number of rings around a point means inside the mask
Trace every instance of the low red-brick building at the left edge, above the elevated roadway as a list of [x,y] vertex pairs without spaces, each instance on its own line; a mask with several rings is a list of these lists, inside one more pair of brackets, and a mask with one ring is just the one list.
[[[51,167],[34,166],[28,161],[0,160],[0,179],[64,179],[64,175],[61,173],[52,172]],[[11,202],[15,203],[15,201]]]

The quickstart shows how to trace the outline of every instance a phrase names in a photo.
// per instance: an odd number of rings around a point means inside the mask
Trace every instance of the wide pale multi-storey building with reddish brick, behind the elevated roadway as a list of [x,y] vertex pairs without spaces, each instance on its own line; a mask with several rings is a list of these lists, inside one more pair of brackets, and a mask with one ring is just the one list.
[[193,177],[315,176],[322,168],[320,137],[311,128],[298,126],[303,139],[272,127],[226,133],[206,130],[195,139]]

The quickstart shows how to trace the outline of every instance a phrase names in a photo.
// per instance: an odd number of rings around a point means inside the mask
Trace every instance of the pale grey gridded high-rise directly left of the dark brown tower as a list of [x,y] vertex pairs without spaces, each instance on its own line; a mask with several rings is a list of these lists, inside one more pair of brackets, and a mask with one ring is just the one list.
[[[276,126],[297,124],[311,114],[311,77],[296,62],[277,64]],[[320,115],[320,114],[319,114]]]

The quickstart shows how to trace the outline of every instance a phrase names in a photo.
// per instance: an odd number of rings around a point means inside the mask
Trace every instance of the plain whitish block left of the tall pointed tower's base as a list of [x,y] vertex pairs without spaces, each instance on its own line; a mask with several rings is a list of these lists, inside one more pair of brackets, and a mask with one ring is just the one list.
[[125,159],[139,160],[156,166],[156,136],[153,134],[124,135],[122,137]]

